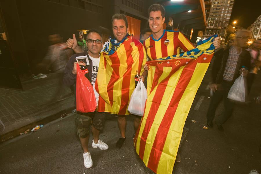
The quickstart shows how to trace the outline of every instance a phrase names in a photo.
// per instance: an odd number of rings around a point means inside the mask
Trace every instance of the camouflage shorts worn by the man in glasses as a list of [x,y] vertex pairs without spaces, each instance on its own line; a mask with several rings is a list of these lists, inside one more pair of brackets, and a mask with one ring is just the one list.
[[97,111],[91,113],[76,113],[75,125],[77,128],[77,135],[80,138],[85,138],[89,135],[91,121],[93,121],[93,126],[96,129],[102,130],[105,122],[105,113]]

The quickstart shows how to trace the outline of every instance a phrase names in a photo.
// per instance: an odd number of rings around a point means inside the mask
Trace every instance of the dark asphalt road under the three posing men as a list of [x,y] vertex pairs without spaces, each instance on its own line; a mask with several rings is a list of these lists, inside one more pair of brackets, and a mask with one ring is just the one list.
[[[181,162],[175,163],[175,174],[248,174],[255,169],[261,173],[261,105],[238,105],[232,117],[224,124],[225,132],[217,127],[203,129],[206,111],[211,98],[207,72],[194,99],[186,120]],[[261,77],[256,79],[250,98],[260,93]],[[217,110],[221,113],[222,104]],[[195,120],[196,122],[192,122]],[[44,125],[34,133],[21,135],[0,144],[1,173],[154,173],[136,154],[133,146],[133,119],[127,119],[127,139],[119,150],[115,143],[119,138],[117,119],[108,116],[100,139],[108,150],[92,148],[90,134],[89,150],[92,168],[85,168],[83,151],[75,133],[74,115],[59,118]]]

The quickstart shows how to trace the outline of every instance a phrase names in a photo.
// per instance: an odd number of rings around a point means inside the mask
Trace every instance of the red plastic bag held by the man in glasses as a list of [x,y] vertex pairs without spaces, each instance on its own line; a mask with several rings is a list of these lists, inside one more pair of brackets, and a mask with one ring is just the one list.
[[82,113],[94,112],[96,109],[96,98],[93,86],[84,76],[80,66],[77,64],[76,77],[76,110]]

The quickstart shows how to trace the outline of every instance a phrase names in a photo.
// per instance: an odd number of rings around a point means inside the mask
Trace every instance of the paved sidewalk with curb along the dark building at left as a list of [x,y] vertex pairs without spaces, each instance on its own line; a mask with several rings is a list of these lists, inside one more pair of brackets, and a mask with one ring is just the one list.
[[0,119],[5,125],[4,132],[0,133],[1,142],[2,136],[10,131],[74,107],[74,95],[62,101],[55,99],[57,90],[64,90],[63,95],[70,93],[70,88],[58,89],[57,73],[47,74],[42,79],[28,80],[22,86],[23,90],[0,88]]

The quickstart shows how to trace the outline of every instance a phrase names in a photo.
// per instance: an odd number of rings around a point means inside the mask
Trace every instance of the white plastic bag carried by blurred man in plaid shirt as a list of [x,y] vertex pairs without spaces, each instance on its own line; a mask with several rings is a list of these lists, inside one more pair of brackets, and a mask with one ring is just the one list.
[[239,102],[245,102],[246,94],[247,94],[246,89],[247,86],[244,83],[244,76],[242,73],[237,79],[235,79],[234,84],[231,86],[229,90],[227,98]]

